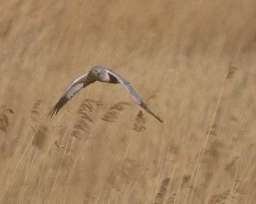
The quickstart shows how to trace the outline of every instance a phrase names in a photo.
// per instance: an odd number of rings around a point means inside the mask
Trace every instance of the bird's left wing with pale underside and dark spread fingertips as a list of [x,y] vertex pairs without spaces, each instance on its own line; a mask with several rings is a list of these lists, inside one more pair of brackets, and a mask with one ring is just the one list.
[[50,109],[47,117],[53,117],[53,114],[57,114],[59,110],[69,101],[78,91],[83,89],[84,87],[90,85],[96,80],[89,76],[89,71],[78,78],[74,79],[69,87],[65,90],[65,92],[61,95],[59,101]]

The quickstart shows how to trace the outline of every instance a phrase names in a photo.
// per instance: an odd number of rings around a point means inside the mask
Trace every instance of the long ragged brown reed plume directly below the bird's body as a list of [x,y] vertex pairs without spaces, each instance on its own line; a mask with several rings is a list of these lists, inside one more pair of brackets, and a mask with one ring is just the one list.
[[93,122],[89,117],[89,112],[94,111],[94,105],[102,106],[101,101],[94,101],[91,99],[85,99],[78,108],[78,120],[75,122],[75,126],[71,132],[71,136],[81,139],[83,133],[88,133],[90,130],[89,122]]

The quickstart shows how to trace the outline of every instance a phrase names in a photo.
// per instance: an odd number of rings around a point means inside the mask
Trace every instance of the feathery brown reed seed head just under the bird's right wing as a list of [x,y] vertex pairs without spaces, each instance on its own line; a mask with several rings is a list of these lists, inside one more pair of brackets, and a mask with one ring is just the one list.
[[116,119],[118,119],[118,114],[124,110],[124,106],[129,105],[130,104],[125,101],[115,103],[110,107],[110,109],[108,109],[108,111],[101,117],[101,119],[107,122],[116,122]]

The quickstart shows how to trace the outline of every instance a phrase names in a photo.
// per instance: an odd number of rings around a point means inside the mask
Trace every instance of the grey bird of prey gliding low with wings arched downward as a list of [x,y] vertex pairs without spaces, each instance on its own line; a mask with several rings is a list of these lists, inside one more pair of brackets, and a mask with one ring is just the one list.
[[140,98],[140,95],[135,92],[133,87],[124,79],[122,76],[117,74],[116,72],[106,68],[104,66],[93,66],[91,71],[87,71],[86,73],[78,76],[74,79],[64,93],[61,95],[59,101],[50,108],[50,111],[47,114],[47,117],[53,117],[54,114],[58,114],[59,110],[69,101],[76,93],[78,93],[83,88],[91,85],[94,82],[107,82],[111,84],[121,84],[124,88],[132,95],[132,98],[141,106],[145,111],[155,117],[159,122],[163,122],[163,120],[155,115],[146,104]]

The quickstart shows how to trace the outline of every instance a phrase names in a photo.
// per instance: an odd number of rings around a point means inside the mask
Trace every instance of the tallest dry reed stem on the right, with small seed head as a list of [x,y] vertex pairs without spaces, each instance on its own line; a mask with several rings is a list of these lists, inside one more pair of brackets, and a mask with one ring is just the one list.
[[[200,158],[203,157],[203,154],[204,154],[204,152],[205,152],[205,150],[206,150],[206,146],[207,146],[207,143],[208,143],[208,138],[209,138],[209,136],[210,136],[210,134],[211,134],[211,130],[212,130],[213,127],[214,127],[214,121],[215,121],[215,118],[216,118],[216,115],[217,115],[217,111],[218,111],[218,109],[219,109],[219,103],[220,103],[221,98],[222,98],[222,93],[223,93],[223,90],[224,90],[224,87],[225,87],[225,82],[226,82],[227,78],[231,78],[231,77],[233,76],[233,74],[235,74],[235,69],[234,69],[234,67],[233,67],[233,62],[230,61],[229,65],[228,65],[228,67],[227,67],[227,71],[226,71],[226,73],[225,73],[223,82],[222,82],[222,87],[221,87],[220,92],[219,92],[219,97],[218,97],[218,101],[217,101],[217,106],[216,106],[215,111],[214,111],[214,116],[213,116],[212,119],[211,119],[211,125],[210,125],[210,127],[208,128],[208,133],[207,133],[206,139],[205,139],[205,138],[203,139],[203,144],[202,144],[201,147],[200,147],[200,152],[199,152],[199,154],[198,154],[198,156],[197,156],[197,160],[196,160],[196,162],[195,162],[195,168],[194,168],[194,170],[193,170],[192,177],[191,177],[191,180],[190,180],[190,182],[189,182],[189,187],[192,187],[192,194],[191,194],[191,196],[190,196],[190,198],[189,198],[189,204],[190,204],[191,201],[192,201],[192,195],[193,195],[193,192],[194,192],[194,189],[195,189],[195,185],[196,185],[196,182],[197,182],[197,176],[196,176],[196,177],[195,177],[194,184],[192,185],[192,180],[194,179],[194,176],[195,176],[195,170],[197,170],[196,175],[198,175],[199,170],[200,170],[200,165],[201,165]],[[227,77],[227,76],[229,76],[229,77]],[[199,163],[199,164],[198,164],[198,163]],[[189,189],[190,189],[190,188],[187,189],[187,193],[186,193],[186,197],[185,197],[184,204],[187,203],[187,197],[188,197],[188,195],[189,195]]]

